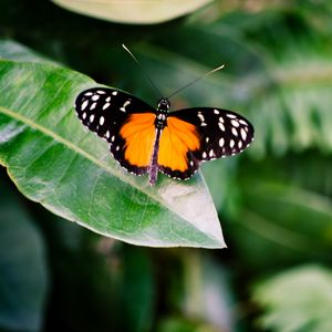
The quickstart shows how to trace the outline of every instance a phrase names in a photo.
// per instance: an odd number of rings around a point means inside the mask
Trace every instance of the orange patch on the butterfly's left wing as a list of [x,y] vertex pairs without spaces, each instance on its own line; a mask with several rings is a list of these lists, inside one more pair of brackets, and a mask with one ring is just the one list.
[[137,167],[147,167],[155,139],[155,114],[135,113],[122,126],[120,135],[125,139],[124,157]]

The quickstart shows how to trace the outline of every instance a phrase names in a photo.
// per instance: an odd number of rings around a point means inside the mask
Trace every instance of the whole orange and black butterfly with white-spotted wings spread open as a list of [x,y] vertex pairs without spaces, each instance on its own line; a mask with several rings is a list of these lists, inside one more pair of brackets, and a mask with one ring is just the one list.
[[199,164],[241,153],[253,139],[243,116],[215,107],[169,112],[162,98],[156,108],[124,91],[89,89],[79,94],[75,110],[81,122],[110,143],[114,158],[134,175],[158,172],[188,179]]

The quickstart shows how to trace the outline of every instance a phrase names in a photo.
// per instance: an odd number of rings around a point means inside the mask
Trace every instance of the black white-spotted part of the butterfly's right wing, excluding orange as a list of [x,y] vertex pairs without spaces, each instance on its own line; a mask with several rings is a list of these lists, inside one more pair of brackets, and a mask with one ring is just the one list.
[[[195,125],[200,139],[199,149],[188,156],[194,173],[197,160],[206,162],[241,153],[253,141],[253,126],[243,116],[227,110],[195,107],[170,113]],[[193,162],[193,163],[190,163]]]

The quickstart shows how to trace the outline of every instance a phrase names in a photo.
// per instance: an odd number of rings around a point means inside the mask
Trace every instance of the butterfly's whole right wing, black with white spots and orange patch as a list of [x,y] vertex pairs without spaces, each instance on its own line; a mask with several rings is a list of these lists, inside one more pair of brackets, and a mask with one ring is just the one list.
[[170,113],[167,131],[166,138],[160,139],[159,170],[180,179],[191,177],[200,162],[239,154],[253,139],[253,127],[248,120],[221,108]]

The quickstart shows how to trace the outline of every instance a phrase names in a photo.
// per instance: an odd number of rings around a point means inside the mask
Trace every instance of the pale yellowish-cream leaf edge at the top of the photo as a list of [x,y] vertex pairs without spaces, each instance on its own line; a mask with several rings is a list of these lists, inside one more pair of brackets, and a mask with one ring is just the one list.
[[96,0],[53,0],[54,3],[90,17],[132,24],[152,24],[165,22],[211,2],[211,0],[133,0],[133,1],[96,1]]

